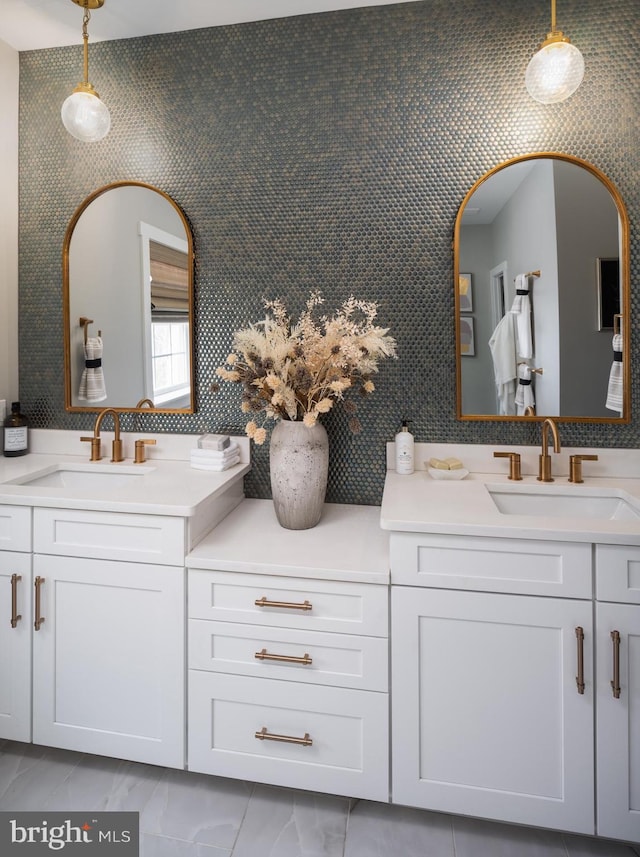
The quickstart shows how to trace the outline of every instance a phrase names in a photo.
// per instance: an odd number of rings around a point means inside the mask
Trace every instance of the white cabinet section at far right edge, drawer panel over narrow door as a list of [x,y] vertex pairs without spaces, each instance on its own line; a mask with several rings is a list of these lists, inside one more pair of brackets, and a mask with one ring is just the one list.
[[640,842],[640,548],[596,546],[598,833]]

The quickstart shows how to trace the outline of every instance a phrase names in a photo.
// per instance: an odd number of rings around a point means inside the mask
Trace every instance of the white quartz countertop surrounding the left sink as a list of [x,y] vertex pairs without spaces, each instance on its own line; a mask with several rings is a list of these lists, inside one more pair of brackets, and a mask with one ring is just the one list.
[[86,455],[29,453],[16,458],[2,457],[0,503],[191,517],[201,503],[222,494],[250,470],[248,461],[215,472],[196,470],[188,460],[159,459],[152,455],[153,452],[145,464],[133,464],[130,459],[110,464],[108,458],[95,462],[96,470],[119,469],[124,474],[136,474],[124,484],[114,479],[113,487],[105,484],[73,488],[8,483],[60,465],[79,466],[86,471],[91,466]]

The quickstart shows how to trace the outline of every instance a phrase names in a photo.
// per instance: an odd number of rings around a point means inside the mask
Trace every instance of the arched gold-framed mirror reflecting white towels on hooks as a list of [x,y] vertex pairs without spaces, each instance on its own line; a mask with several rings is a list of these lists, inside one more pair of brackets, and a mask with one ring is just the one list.
[[603,173],[541,153],[482,176],[454,278],[459,419],[629,421],[629,224]]

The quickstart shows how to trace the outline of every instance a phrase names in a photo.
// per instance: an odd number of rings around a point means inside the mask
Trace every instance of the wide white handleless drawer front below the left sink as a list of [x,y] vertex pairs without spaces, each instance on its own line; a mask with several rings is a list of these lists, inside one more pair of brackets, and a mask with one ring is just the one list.
[[34,510],[34,552],[184,566],[185,522],[161,515]]

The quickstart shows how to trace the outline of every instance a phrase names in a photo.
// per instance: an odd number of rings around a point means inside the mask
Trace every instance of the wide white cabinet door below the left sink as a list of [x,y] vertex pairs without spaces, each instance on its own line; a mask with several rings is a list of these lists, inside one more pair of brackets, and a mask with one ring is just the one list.
[[33,562],[36,581],[44,578],[33,740],[183,767],[184,570],[41,555]]

